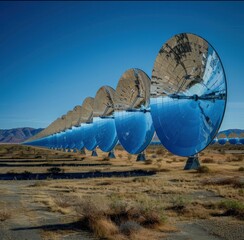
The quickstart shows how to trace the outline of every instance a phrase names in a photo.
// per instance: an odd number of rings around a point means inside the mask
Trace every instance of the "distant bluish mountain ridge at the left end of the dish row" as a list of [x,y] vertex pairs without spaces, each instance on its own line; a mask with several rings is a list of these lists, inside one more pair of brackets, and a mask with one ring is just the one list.
[[21,143],[42,130],[43,128],[29,127],[0,129],[0,143]]

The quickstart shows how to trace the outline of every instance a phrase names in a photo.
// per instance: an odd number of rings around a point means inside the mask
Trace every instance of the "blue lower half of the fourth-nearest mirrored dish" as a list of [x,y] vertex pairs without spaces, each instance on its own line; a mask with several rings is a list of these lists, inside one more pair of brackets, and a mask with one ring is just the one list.
[[94,124],[82,123],[81,128],[82,128],[83,143],[85,148],[88,149],[89,151],[93,151],[97,146]]

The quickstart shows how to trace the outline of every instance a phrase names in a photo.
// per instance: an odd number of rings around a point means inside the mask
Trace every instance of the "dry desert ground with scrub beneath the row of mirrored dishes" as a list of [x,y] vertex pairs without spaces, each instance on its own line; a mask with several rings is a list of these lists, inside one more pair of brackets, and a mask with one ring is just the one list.
[[137,162],[0,145],[0,239],[243,240],[244,146],[212,145],[201,167],[149,146]]

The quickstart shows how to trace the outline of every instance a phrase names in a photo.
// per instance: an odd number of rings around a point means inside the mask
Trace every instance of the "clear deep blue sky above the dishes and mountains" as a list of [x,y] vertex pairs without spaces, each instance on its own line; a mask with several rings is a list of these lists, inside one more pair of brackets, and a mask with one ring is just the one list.
[[0,128],[47,127],[116,88],[137,67],[151,76],[161,46],[191,32],[222,59],[221,129],[244,129],[244,2],[0,2]]

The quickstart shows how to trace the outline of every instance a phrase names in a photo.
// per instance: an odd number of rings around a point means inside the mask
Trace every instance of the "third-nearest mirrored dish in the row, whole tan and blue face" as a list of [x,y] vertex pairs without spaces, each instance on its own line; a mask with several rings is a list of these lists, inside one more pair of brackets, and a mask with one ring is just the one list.
[[104,152],[111,151],[118,137],[114,121],[115,90],[109,86],[101,87],[94,99],[93,124],[97,145]]

